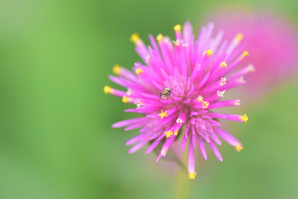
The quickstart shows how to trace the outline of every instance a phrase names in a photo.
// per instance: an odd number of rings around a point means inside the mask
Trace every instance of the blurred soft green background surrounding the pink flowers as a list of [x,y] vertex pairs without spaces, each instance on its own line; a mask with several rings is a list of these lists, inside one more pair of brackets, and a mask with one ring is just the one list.
[[[174,37],[173,26],[214,9],[268,10],[298,23],[298,1],[0,1],[0,198],[298,198],[298,82],[231,111],[225,122],[244,145],[196,151],[195,180],[145,149],[137,131],[112,129],[131,104],[103,93],[114,64],[140,61],[138,32]],[[264,91],[265,92],[265,91]],[[241,98],[240,98],[241,99]]]

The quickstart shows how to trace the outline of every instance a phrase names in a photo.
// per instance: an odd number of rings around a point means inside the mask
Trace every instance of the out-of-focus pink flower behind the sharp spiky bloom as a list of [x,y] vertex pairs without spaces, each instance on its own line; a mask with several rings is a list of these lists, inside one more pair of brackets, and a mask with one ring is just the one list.
[[270,14],[231,10],[212,15],[211,20],[217,24],[217,30],[224,31],[227,39],[241,33],[247,43],[246,50],[251,56],[242,64],[254,63],[256,71],[246,79],[249,83],[244,90],[267,93],[268,89],[297,75],[298,36],[288,21]]

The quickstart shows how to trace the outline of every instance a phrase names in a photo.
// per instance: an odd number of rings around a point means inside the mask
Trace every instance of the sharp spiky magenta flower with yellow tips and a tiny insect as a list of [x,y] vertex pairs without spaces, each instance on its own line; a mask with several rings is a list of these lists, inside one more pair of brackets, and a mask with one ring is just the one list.
[[[164,157],[179,134],[183,137],[181,149],[184,151],[187,140],[188,175],[194,179],[195,159],[194,148],[199,146],[205,159],[207,154],[204,146],[206,141],[215,155],[222,161],[216,144],[221,145],[218,136],[240,152],[241,142],[220,128],[217,118],[245,122],[244,115],[229,115],[213,112],[218,107],[238,106],[239,99],[220,101],[224,93],[245,81],[243,77],[253,71],[252,65],[234,70],[248,55],[241,44],[241,35],[228,43],[222,42],[223,33],[212,37],[213,24],[203,27],[198,40],[192,33],[187,21],[174,27],[176,40],[159,34],[155,41],[149,35],[151,46],[146,47],[137,34],[131,36],[136,52],[145,64],[136,62],[133,72],[114,66],[113,72],[119,77],[110,75],[111,81],[127,88],[127,92],[104,87],[105,93],[122,98],[124,103],[134,103],[135,109],[125,112],[144,114],[143,117],[120,121],[112,125],[114,128],[126,127],[125,131],[140,129],[140,134],[128,140],[132,145],[129,153],[150,144],[145,153],[151,152],[162,144],[157,161]],[[231,71],[235,71],[232,72]],[[182,130],[182,127],[183,130]],[[198,145],[196,144],[198,143]]]

